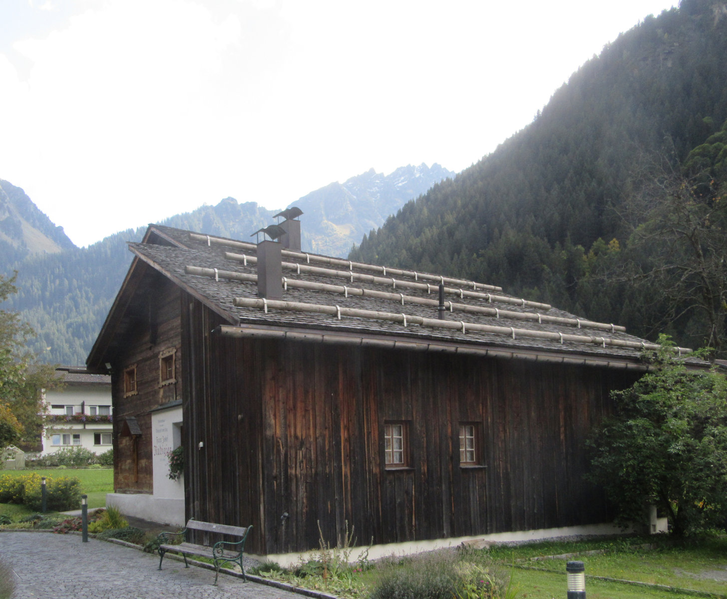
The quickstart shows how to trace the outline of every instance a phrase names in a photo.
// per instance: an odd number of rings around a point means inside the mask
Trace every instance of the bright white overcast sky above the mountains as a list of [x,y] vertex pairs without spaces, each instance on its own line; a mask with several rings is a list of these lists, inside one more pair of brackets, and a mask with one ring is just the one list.
[[0,0],[0,178],[77,245],[459,172],[672,0]]

